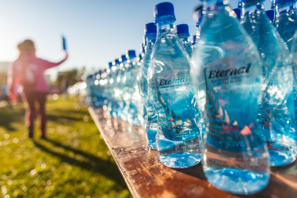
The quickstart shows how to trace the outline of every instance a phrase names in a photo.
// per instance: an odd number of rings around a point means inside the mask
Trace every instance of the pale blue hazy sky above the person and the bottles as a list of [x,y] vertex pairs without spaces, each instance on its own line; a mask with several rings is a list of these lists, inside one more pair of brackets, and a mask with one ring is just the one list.
[[[17,58],[24,39],[36,44],[37,56],[50,61],[64,57],[61,35],[67,39],[69,59],[49,73],[85,65],[99,70],[127,49],[139,52],[143,26],[153,22],[153,7],[162,0],[10,0],[0,1],[0,62]],[[193,10],[198,0],[172,0],[176,25],[187,23],[195,34]],[[232,8],[237,1],[230,0]],[[266,9],[270,3],[265,1]]]

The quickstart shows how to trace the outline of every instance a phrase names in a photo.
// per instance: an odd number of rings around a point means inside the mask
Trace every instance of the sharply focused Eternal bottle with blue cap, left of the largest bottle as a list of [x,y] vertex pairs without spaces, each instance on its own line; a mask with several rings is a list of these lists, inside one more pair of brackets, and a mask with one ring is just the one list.
[[173,4],[154,7],[157,40],[148,69],[148,86],[158,115],[157,151],[162,164],[186,168],[201,159],[201,136],[192,116],[189,59],[178,35]]

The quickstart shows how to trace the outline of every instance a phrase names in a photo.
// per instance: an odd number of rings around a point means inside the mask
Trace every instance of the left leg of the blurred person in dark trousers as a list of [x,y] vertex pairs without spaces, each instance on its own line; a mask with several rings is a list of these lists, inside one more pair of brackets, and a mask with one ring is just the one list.
[[33,137],[34,119],[36,116],[34,92],[24,92],[23,102],[28,104],[25,114],[25,124],[29,129],[29,137]]

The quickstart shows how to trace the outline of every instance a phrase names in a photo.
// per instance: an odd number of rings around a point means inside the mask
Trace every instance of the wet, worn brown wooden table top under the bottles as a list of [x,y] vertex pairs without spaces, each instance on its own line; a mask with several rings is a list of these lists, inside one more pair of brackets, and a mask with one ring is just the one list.
[[297,197],[297,162],[272,168],[268,186],[259,193],[229,194],[208,183],[201,163],[186,169],[161,164],[142,127],[110,118],[103,109],[89,107],[89,112],[133,197]]

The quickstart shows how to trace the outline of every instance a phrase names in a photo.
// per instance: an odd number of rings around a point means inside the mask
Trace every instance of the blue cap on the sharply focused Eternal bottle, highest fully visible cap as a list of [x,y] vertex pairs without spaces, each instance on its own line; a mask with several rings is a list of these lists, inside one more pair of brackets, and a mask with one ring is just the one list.
[[154,6],[155,22],[157,22],[162,16],[169,16],[173,20],[176,20],[172,3],[162,2]]

